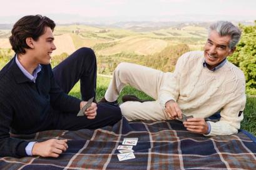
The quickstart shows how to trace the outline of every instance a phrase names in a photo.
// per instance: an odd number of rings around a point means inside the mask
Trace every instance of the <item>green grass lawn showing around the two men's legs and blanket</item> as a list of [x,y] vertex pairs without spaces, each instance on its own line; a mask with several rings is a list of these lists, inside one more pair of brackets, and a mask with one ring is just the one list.
[[[97,79],[97,90],[96,90],[96,100],[99,101],[105,94],[106,88],[110,83],[110,78],[98,77]],[[79,82],[74,86],[74,88],[69,93],[74,97],[80,98],[79,91]],[[141,99],[151,99],[145,93],[136,90],[130,86],[126,86],[121,92],[120,97],[118,98],[118,102],[121,103],[121,97],[125,94],[133,94]],[[256,136],[256,97],[248,97],[247,103],[244,110],[244,119],[242,121],[241,129],[247,130],[253,135]]]

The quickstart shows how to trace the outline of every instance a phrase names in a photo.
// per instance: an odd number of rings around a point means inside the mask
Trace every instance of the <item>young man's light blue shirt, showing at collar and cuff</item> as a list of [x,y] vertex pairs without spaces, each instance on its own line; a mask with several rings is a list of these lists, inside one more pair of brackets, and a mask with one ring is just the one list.
[[[21,70],[21,72],[24,73],[24,75],[26,77],[29,78],[29,80],[31,80],[32,82],[36,83],[36,77],[38,77],[38,73],[41,71],[41,65],[39,64],[38,67],[36,67],[36,69],[34,69],[33,75],[31,75],[19,62],[18,60],[18,56],[15,56],[15,62],[18,65],[19,69]],[[33,146],[36,142],[29,142],[28,145],[26,146],[25,150],[26,150],[26,154],[28,154],[28,156],[32,156],[32,149]]]

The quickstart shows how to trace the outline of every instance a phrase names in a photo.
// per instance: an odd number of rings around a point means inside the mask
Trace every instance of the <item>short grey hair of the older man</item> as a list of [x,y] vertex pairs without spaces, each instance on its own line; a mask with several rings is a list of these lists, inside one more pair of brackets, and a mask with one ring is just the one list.
[[235,49],[235,46],[237,45],[241,37],[240,29],[228,21],[217,21],[211,24],[208,32],[209,35],[211,31],[217,31],[221,37],[229,35],[231,37],[231,40],[228,44],[228,47],[232,50]]

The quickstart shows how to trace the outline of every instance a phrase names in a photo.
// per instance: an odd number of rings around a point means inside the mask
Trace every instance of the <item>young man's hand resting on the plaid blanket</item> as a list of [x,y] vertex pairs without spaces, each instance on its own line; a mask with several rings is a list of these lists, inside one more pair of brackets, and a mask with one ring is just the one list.
[[47,141],[35,143],[32,149],[32,155],[58,158],[59,154],[68,149],[67,142],[67,139],[49,139]]

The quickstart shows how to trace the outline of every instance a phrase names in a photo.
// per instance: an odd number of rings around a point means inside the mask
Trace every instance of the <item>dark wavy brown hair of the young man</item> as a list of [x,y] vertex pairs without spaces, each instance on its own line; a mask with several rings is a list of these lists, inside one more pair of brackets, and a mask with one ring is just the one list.
[[26,38],[32,37],[33,40],[44,34],[46,27],[50,27],[53,31],[55,23],[46,16],[24,16],[17,21],[11,31],[9,41],[16,54],[25,54],[25,49],[31,49],[26,43]]

